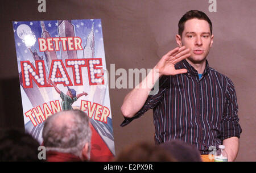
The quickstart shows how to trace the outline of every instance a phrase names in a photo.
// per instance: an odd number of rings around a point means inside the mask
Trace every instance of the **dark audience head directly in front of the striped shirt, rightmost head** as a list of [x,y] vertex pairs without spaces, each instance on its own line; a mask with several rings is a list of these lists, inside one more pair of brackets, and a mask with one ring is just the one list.
[[159,145],[170,153],[178,162],[201,162],[201,155],[195,146],[184,141],[171,140]]

